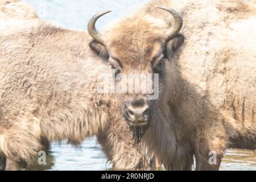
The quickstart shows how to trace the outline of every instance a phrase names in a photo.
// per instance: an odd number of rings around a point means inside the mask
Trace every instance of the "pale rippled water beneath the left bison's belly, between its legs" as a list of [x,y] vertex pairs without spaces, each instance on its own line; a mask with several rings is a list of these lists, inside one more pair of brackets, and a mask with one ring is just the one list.
[[108,170],[108,163],[102,153],[96,138],[86,139],[79,148],[63,143],[53,143],[51,152],[47,155],[46,165],[39,165],[38,160],[28,167],[28,170]]

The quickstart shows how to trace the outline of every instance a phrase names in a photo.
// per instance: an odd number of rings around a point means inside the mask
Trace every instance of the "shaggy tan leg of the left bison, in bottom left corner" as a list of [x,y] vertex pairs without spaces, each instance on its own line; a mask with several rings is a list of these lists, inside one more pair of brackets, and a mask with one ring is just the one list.
[[23,169],[43,148],[38,123],[32,119],[28,122],[27,118],[20,120],[22,122],[13,122],[3,136],[1,149],[6,156],[6,170]]

